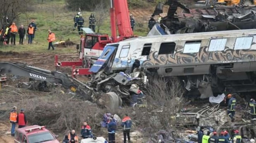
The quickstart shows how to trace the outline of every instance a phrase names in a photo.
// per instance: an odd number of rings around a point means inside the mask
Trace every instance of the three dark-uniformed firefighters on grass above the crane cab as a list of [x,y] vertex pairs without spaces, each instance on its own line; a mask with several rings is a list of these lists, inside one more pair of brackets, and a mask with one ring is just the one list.
[[[96,24],[95,16],[93,13],[91,13],[91,15],[89,17],[89,28],[91,28],[93,30],[93,32],[95,32],[95,24]],[[79,35],[83,34],[83,30],[81,28],[84,27],[84,18],[80,12],[78,12],[77,15],[74,16],[73,30],[75,30],[75,27],[77,27]]]

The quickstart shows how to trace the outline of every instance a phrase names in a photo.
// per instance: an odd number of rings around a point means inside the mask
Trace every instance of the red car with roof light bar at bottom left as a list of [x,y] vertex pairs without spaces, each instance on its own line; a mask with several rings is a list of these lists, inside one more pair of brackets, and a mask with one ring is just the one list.
[[15,131],[14,143],[60,143],[44,126],[31,125]]

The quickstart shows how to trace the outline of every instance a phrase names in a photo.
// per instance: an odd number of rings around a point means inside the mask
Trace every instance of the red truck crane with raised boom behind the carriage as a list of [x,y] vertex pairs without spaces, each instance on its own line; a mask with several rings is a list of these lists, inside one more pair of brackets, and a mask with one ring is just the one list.
[[[108,43],[119,42],[128,38],[136,37],[130,24],[130,15],[127,0],[110,0],[111,38],[108,34],[87,33],[80,38],[79,61],[58,61],[55,55],[55,67],[72,66],[72,75],[90,75],[91,65],[102,54],[103,48]],[[118,34],[116,32],[118,28]],[[77,46],[79,49],[79,46]],[[83,68],[75,68],[81,66]]]

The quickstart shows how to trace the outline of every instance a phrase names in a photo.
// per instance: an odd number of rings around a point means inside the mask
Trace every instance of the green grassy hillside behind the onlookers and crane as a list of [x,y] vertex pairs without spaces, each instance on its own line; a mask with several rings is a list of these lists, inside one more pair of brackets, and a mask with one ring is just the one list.
[[[79,35],[77,29],[73,31],[73,17],[77,13],[75,11],[69,11],[65,8],[64,0],[44,0],[43,4],[39,3],[41,1],[37,1],[34,7],[33,12],[29,12],[26,15],[23,15],[19,21],[16,21],[16,25],[23,24],[25,28],[27,28],[31,19],[36,20],[37,31],[35,34],[35,43],[32,45],[28,45],[28,38],[25,40],[24,45],[19,45],[18,43],[18,35],[16,36],[16,46],[8,45],[0,47],[2,51],[31,51],[31,52],[54,52],[54,53],[75,53],[75,46],[68,48],[57,48],[55,51],[48,51],[48,29],[51,29],[56,35],[56,41],[67,40],[70,39],[75,43],[79,42]],[[84,27],[88,27],[88,17],[91,12],[81,12],[83,18],[85,19]],[[135,19],[136,20],[136,19]],[[139,36],[144,36],[147,34],[147,25],[144,24],[143,27],[135,29],[134,34]],[[110,19],[106,19],[104,21],[103,26],[100,28],[100,33],[106,33],[111,35],[110,31]],[[56,42],[55,41],[55,42]]]

